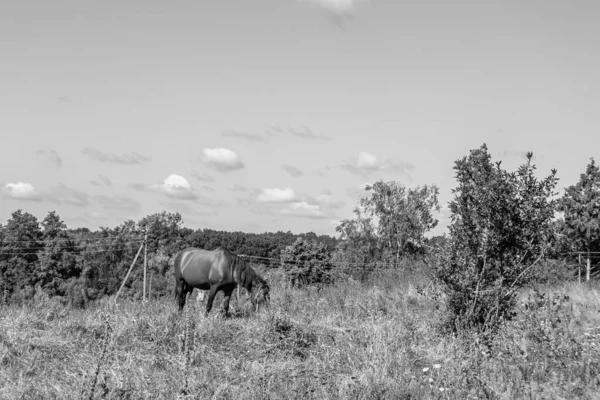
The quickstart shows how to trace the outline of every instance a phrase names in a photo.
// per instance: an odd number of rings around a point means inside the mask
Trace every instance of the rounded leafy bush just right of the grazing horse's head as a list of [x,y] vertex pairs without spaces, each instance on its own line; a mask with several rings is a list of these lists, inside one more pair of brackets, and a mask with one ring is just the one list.
[[332,266],[325,245],[298,238],[281,252],[281,263],[292,285],[331,283]]

